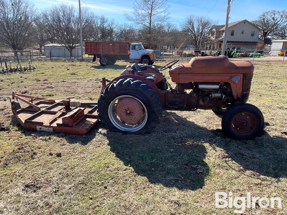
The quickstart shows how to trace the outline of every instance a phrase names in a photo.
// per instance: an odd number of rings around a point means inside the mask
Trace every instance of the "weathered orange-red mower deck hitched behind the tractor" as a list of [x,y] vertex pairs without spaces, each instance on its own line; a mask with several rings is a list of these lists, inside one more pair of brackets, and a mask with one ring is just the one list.
[[38,101],[34,105],[40,108],[29,105],[17,110],[15,116],[17,121],[29,130],[83,135],[99,121],[97,105],[95,101],[77,101],[94,104],[67,108],[63,100]]

